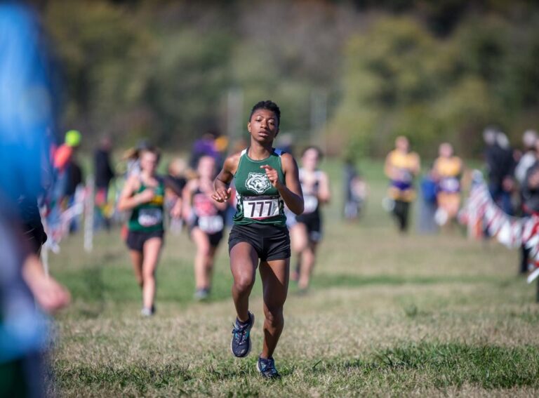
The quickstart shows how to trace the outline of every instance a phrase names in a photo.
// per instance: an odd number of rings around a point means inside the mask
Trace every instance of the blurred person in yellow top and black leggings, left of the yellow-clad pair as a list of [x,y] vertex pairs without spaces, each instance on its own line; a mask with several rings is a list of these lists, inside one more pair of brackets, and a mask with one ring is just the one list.
[[395,149],[385,158],[385,175],[390,179],[388,195],[393,200],[393,214],[400,232],[408,230],[410,204],[415,199],[413,179],[420,171],[419,155],[410,152],[410,143],[404,136],[397,137]]

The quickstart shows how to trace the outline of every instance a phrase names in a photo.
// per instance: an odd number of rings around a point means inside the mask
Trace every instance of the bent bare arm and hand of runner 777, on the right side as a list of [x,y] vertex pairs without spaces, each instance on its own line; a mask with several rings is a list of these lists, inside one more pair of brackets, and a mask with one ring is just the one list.
[[284,173],[284,184],[279,181],[277,170],[268,166],[260,166],[266,171],[270,183],[279,190],[284,203],[295,214],[303,213],[303,192],[301,190],[298,164],[295,163],[291,154],[281,155],[281,167]]

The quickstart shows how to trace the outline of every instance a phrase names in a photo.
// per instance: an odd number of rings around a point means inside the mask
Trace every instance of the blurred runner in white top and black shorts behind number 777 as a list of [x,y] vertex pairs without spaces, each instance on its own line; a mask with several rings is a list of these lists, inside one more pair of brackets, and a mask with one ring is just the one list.
[[317,246],[322,238],[320,206],[328,203],[331,197],[328,176],[318,169],[321,157],[321,150],[317,147],[307,147],[303,151],[299,175],[305,210],[295,218],[296,222],[290,229],[293,251],[299,260],[293,279],[298,280],[302,291],[309,287]]

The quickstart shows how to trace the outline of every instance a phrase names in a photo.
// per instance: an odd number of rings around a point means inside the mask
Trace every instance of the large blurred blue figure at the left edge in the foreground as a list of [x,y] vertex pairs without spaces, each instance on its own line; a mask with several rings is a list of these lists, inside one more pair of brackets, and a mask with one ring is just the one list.
[[[38,197],[51,183],[55,131],[51,62],[36,15],[0,4],[0,396],[46,395],[41,310],[66,305],[69,293],[39,261],[46,235]],[[36,308],[34,300],[41,307]]]

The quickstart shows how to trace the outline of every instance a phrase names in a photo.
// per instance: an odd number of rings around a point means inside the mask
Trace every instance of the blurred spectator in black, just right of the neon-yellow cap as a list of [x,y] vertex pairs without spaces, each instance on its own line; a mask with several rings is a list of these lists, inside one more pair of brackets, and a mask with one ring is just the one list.
[[109,197],[109,185],[114,178],[114,169],[110,162],[112,140],[105,136],[93,153],[93,170],[95,173],[95,206],[99,209],[96,217],[96,226],[105,225],[110,229],[110,220],[107,216],[106,206]]

